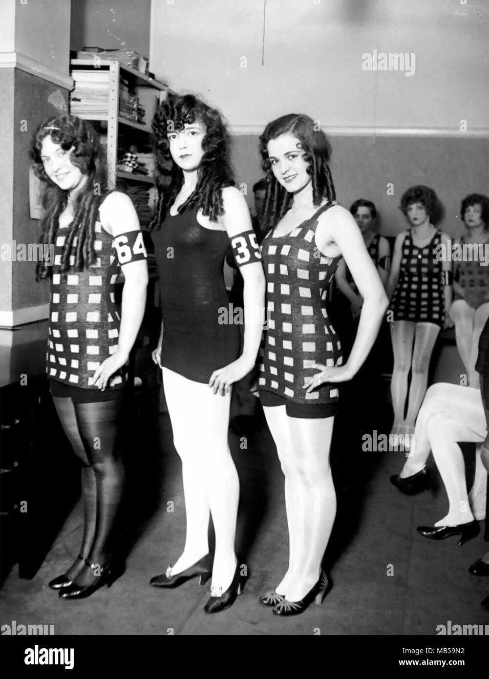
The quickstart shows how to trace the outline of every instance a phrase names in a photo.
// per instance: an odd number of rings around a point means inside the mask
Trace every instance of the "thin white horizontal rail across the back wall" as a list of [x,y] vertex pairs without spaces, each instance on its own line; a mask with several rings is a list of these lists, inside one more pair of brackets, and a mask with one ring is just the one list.
[[[233,134],[261,134],[266,127],[257,124],[230,125]],[[467,132],[461,132],[458,128],[390,128],[390,127],[325,127],[321,129],[331,136],[448,136],[448,137],[481,137],[489,138],[489,128],[470,128]]]

